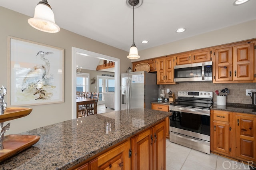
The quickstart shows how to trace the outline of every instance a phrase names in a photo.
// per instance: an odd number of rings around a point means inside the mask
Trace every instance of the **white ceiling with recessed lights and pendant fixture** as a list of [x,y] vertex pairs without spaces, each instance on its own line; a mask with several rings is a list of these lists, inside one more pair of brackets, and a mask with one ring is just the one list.
[[[1,0],[0,6],[33,17],[39,1]],[[61,29],[129,51],[132,45],[132,8],[126,5],[126,1],[48,0],[48,3]],[[233,2],[144,0],[134,11],[135,45],[140,51],[256,19],[256,0],[240,6],[234,6]],[[176,33],[180,27],[185,27],[186,32]],[[149,43],[142,44],[142,40]]]

